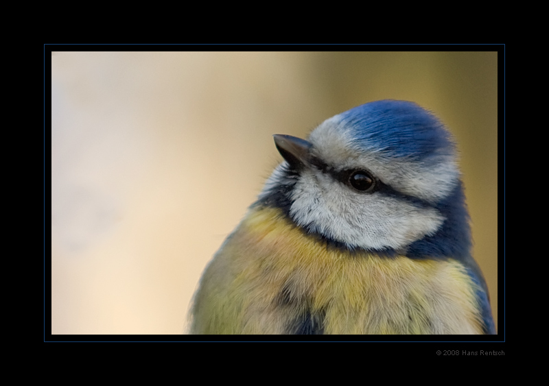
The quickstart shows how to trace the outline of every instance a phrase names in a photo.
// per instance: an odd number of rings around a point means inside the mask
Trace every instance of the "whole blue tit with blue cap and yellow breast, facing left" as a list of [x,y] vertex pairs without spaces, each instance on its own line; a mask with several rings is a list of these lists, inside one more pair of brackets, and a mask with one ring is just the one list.
[[193,334],[495,334],[451,134],[409,101],[331,117],[207,266]]

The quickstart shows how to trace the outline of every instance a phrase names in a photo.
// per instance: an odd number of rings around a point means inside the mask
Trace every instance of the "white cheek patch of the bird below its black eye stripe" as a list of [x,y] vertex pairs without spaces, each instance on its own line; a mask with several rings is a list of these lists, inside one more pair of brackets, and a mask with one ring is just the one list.
[[404,248],[434,234],[444,220],[434,208],[356,193],[322,173],[303,173],[292,199],[290,215],[297,224],[360,248]]

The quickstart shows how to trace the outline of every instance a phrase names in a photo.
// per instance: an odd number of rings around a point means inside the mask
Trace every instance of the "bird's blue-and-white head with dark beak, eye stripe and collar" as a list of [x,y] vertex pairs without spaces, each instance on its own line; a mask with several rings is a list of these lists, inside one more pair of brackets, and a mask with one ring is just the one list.
[[363,104],[306,140],[275,134],[274,143],[284,161],[257,203],[281,208],[307,234],[348,250],[469,254],[456,146],[417,104]]

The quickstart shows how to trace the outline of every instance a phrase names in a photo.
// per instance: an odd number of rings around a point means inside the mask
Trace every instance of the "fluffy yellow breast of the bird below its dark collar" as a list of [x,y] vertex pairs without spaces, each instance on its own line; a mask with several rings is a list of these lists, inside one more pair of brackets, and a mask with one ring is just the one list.
[[294,333],[313,315],[325,334],[480,334],[476,290],[458,261],[329,248],[255,208],[207,268],[191,332]]

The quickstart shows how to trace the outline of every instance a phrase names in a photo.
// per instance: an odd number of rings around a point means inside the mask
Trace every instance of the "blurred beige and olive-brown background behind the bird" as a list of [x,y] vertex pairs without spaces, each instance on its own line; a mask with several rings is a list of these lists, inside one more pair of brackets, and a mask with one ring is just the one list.
[[454,133],[498,323],[495,52],[51,55],[51,333],[181,334],[200,274],[281,161],[272,134],[377,99]]

